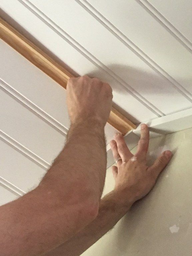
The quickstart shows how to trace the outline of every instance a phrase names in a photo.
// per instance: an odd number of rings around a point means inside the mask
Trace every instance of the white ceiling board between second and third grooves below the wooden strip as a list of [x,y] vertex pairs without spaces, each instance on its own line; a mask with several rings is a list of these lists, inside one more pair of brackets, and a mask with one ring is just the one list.
[[[46,170],[0,140],[0,177],[23,192],[35,188]],[[0,180],[1,181],[1,180]]]

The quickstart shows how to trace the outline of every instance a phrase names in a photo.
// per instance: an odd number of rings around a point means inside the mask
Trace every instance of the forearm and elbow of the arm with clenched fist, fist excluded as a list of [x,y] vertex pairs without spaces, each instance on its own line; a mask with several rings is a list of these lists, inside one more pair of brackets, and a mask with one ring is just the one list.
[[[0,254],[42,255],[93,221],[104,185],[105,155],[104,128],[73,126],[39,186],[0,207],[0,228],[6,234],[0,236]],[[15,225],[13,241],[9,232]]]

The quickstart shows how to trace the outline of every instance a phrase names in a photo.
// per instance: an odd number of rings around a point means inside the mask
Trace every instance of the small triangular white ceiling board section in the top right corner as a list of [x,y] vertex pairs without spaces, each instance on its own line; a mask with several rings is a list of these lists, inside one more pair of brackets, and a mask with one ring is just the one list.
[[173,25],[179,32],[182,33],[186,39],[192,44],[192,1],[191,0],[182,0],[182,1],[158,1],[158,0],[149,0],[143,1],[147,5],[154,7],[154,13],[156,11],[160,12],[166,20],[168,20],[171,25]]

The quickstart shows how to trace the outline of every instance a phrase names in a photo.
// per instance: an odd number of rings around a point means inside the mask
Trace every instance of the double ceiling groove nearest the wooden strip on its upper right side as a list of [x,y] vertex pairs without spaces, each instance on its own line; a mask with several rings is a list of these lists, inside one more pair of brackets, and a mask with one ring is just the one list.
[[39,10],[34,4],[28,0],[18,0],[23,4],[29,11],[31,11],[36,17],[43,21],[49,28],[51,28],[55,33],[57,33],[61,38],[63,38],[67,43],[69,43],[74,49],[81,53],[86,59],[93,63],[99,69],[104,70],[108,75],[113,77],[116,82],[123,86],[128,93],[130,93],[136,100],[147,107],[151,112],[153,112],[158,117],[164,116],[165,114],[155,107],[151,102],[140,95],[136,90],[134,90],[128,83],[123,81],[119,76],[117,76],[112,70],[105,66],[101,61],[99,61],[95,56],[93,56],[89,51],[87,51],[82,45],[80,45],[75,39],[73,39],[69,34],[67,34],[61,27],[59,27],[55,22],[53,22],[48,16],[46,16],[41,10]]

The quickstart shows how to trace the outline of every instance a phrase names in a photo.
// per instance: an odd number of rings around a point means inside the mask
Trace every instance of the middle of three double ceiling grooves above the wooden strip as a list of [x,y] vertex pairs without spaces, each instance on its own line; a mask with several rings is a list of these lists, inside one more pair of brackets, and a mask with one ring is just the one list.
[[[109,20],[107,20],[99,11],[97,11],[86,0],[74,0],[81,5],[92,17],[100,22],[108,31],[110,31],[118,40],[120,40],[126,47],[134,52],[142,61],[151,67],[156,73],[161,75],[164,79],[169,81],[173,88],[182,94],[187,100],[192,102],[192,94],[177,82],[171,75],[169,75],[163,68],[161,68],[154,60],[152,60],[146,53],[144,53],[137,45],[135,45],[128,37],[126,37],[118,28],[116,28]],[[88,6],[88,7],[87,7]]]

